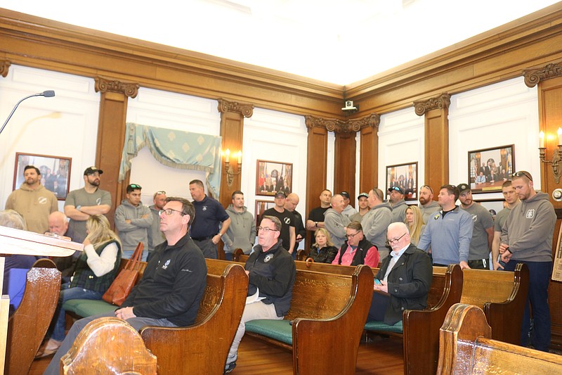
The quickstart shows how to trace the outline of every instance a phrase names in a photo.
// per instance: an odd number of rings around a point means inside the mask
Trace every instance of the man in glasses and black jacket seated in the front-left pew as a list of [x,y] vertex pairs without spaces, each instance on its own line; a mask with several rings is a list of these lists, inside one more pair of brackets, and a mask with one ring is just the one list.
[[80,319],[72,325],[44,374],[58,374],[60,358],[72,348],[84,326],[98,317],[115,316],[134,329],[189,326],[195,322],[207,284],[203,253],[188,234],[195,208],[184,198],[166,198],[160,230],[166,241],[155,248],[143,278],[115,312]]

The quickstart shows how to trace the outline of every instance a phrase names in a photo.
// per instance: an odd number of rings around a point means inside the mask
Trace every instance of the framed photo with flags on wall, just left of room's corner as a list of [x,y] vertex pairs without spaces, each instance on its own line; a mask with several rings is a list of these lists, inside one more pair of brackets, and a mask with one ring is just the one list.
[[293,191],[293,165],[277,161],[257,160],[256,196],[275,196],[276,191]]

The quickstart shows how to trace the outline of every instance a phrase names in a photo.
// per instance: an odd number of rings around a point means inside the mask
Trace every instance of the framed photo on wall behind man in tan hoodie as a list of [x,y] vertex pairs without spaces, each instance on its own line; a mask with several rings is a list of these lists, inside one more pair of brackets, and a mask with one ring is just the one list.
[[23,170],[27,165],[34,165],[41,172],[41,185],[52,191],[59,201],[66,199],[70,184],[70,167],[72,158],[63,156],[37,155],[33,153],[15,153],[13,171],[13,190],[25,182]]

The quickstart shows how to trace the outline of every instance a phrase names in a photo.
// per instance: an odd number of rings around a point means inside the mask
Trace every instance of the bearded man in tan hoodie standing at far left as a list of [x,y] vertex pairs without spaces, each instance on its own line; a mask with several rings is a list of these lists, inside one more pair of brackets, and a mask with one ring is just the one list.
[[58,210],[55,194],[41,185],[41,172],[33,165],[23,169],[25,182],[12,191],[6,201],[6,210],[14,210],[25,219],[28,231],[44,234],[48,231],[48,215]]

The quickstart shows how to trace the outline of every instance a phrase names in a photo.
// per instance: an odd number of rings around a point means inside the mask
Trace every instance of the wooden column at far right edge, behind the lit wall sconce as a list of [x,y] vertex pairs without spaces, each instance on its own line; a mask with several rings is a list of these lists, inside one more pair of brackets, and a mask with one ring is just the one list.
[[[547,148],[545,160],[552,160],[558,146],[558,127],[562,127],[562,63],[549,64],[544,68],[525,70],[525,84],[534,87],[538,84],[539,96],[539,127],[544,132],[544,143]],[[547,139],[547,134],[554,137]],[[538,137],[538,134],[537,134]],[[534,176],[537,178],[537,176]],[[554,189],[562,188],[562,182],[556,184],[551,164],[541,163],[541,190],[551,196]],[[553,201],[556,210],[556,226],[552,239],[552,255],[556,254],[558,231],[562,222],[562,202]],[[555,259],[555,258],[554,258]],[[562,282],[550,281],[549,306],[551,314],[551,348],[562,350]]]

